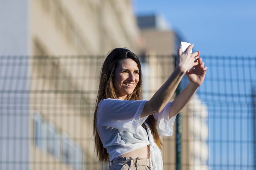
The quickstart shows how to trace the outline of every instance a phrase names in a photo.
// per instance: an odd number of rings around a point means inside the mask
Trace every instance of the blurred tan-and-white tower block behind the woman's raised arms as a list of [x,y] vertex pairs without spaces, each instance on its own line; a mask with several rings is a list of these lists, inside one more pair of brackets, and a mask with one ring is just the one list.
[[[161,15],[149,14],[137,16],[140,28],[143,54],[148,60],[143,65],[143,97],[150,99],[155,91],[168,79],[175,68],[174,55],[180,46],[182,36],[171,30],[170,24]],[[142,61],[144,61],[142,59]],[[186,81],[186,80],[182,80]],[[182,83],[184,84],[184,83]],[[185,87],[181,87],[183,90]],[[174,99],[175,95],[172,97]],[[182,169],[207,170],[208,160],[208,125],[207,106],[197,95],[182,112]],[[176,128],[174,127],[174,131]],[[165,169],[176,167],[176,135],[162,138],[164,149],[163,164]]]

